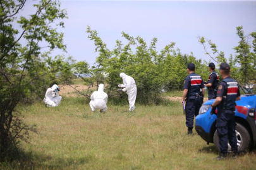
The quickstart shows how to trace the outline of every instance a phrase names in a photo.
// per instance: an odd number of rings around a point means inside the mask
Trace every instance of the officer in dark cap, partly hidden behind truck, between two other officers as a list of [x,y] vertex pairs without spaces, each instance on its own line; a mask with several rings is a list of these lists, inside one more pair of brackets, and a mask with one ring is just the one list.
[[215,99],[217,94],[217,89],[219,85],[219,74],[215,71],[215,64],[211,62],[209,64],[210,76],[207,82],[204,82],[205,86],[208,88],[208,99]]

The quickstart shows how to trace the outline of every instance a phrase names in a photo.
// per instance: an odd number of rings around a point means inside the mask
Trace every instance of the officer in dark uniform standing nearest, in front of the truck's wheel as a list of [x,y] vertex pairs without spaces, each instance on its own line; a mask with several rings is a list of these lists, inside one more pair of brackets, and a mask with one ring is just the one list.
[[238,82],[229,76],[230,67],[226,63],[221,64],[221,76],[223,80],[219,83],[217,98],[212,104],[212,110],[217,106],[217,134],[219,136],[219,149],[221,151],[217,160],[226,159],[228,152],[228,141],[231,145],[233,156],[238,151],[236,140],[235,123],[235,101],[240,100]]

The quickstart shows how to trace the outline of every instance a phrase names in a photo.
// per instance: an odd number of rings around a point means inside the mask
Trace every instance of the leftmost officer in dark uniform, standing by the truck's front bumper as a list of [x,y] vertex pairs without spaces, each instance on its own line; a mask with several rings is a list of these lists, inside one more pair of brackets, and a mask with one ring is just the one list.
[[[192,134],[194,116],[198,115],[199,109],[204,101],[204,81],[201,76],[195,74],[195,64],[188,64],[188,73],[183,86],[183,98],[181,103],[186,98],[186,127],[188,127],[188,134]],[[200,93],[202,89],[202,93]]]

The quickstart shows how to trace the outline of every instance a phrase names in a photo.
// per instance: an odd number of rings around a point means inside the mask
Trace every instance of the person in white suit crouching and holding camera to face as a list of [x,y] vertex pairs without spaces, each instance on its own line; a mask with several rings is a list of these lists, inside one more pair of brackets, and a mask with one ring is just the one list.
[[46,103],[46,107],[55,107],[59,106],[61,99],[61,96],[59,96],[59,87],[54,84],[52,88],[47,89],[44,103]]

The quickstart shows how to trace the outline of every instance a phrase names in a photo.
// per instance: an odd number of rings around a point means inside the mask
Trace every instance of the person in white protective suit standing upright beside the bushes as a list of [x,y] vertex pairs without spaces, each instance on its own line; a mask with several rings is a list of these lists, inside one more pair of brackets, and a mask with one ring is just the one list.
[[122,91],[126,91],[128,94],[129,111],[135,110],[135,101],[137,96],[137,86],[133,77],[121,72],[120,77],[123,79],[123,84],[119,84],[118,87],[123,88]]

